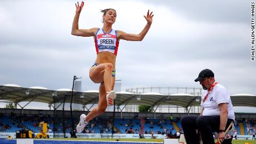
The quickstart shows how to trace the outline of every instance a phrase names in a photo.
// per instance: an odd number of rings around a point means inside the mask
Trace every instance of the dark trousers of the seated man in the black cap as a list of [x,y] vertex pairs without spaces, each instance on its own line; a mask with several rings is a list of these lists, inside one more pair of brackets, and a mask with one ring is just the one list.
[[[228,119],[225,129],[232,121],[232,119]],[[199,144],[196,130],[200,131],[204,144],[215,144],[213,132],[219,132],[220,116],[185,116],[181,119],[181,126],[187,144]],[[221,142],[221,144],[229,143],[232,143],[232,138]]]

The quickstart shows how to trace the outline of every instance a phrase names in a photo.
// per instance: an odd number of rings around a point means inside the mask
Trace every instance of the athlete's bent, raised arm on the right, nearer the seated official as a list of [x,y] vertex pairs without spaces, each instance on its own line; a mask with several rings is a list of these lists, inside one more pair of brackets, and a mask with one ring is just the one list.
[[119,39],[124,39],[127,41],[142,41],[142,39],[146,36],[151,26],[152,17],[154,16],[154,14],[152,13],[153,12],[149,14],[149,11],[147,11],[147,16],[144,16],[147,21],[147,24],[139,34],[131,34],[131,33],[125,33],[122,31],[117,31],[117,34],[119,35]]

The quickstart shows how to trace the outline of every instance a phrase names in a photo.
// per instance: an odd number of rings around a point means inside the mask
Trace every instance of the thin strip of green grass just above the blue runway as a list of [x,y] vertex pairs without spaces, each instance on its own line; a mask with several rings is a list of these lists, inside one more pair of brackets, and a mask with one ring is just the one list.
[[[49,138],[50,140],[81,140],[81,141],[132,141],[132,142],[164,142],[163,139],[156,138]],[[232,140],[233,144],[256,144],[256,140]]]

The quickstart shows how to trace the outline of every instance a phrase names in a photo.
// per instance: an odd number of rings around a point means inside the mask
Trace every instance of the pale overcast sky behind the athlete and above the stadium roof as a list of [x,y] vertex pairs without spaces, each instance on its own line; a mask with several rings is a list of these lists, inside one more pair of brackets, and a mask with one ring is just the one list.
[[[97,90],[88,70],[95,62],[92,37],[71,35],[76,1],[0,1],[0,85]],[[79,1],[82,2],[82,1]],[[256,62],[250,61],[250,1],[85,1],[79,28],[102,28],[100,9],[114,8],[112,28],[140,33],[147,9],[151,28],[143,41],[120,41],[116,80],[135,87],[198,87],[205,68],[230,95],[256,95]]]

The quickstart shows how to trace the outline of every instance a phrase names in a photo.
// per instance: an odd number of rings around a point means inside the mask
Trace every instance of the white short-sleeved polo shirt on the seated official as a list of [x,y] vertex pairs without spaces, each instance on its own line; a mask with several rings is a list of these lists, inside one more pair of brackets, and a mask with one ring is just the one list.
[[235,113],[231,98],[226,88],[219,83],[215,85],[213,91],[209,93],[208,98],[203,102],[208,91],[205,90],[201,96],[201,106],[204,107],[203,116],[220,116],[220,108],[218,104],[228,103],[228,118],[235,120]]

